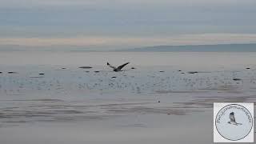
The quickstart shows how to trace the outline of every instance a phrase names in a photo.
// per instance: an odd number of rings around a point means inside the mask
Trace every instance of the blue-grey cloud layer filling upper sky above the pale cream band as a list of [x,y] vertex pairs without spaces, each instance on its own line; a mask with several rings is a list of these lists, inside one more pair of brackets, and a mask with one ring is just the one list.
[[0,37],[256,33],[254,0],[1,0]]

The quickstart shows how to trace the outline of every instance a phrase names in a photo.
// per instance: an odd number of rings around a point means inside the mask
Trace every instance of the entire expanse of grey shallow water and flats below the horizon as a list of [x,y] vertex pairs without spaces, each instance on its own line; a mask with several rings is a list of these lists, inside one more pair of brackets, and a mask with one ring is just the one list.
[[[213,102],[254,102],[255,60],[256,53],[1,52],[0,143],[212,143]],[[105,66],[127,61],[118,73]]]

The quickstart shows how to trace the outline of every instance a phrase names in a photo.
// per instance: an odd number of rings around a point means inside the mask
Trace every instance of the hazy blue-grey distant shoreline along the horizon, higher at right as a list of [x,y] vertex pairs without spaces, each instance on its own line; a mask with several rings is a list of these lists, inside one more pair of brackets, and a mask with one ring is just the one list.
[[102,50],[83,46],[23,47],[0,46],[2,52],[42,51],[42,52],[256,52],[256,43],[184,45],[184,46],[146,46],[138,48]]

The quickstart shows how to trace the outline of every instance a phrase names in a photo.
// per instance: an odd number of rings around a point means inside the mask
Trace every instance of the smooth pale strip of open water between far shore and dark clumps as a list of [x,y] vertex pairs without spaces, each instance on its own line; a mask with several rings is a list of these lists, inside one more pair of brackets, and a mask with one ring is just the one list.
[[105,66],[131,62],[133,66],[242,67],[256,65],[256,53],[225,52],[1,52],[0,65]]

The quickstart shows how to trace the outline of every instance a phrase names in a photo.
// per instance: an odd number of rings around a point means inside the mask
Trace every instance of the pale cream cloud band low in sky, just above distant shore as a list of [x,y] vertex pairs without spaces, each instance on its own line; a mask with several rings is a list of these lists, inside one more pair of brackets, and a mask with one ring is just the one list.
[[202,45],[256,43],[256,34],[182,34],[170,37],[74,37],[74,38],[0,38],[2,46],[90,46],[101,49],[134,48],[159,45]]

